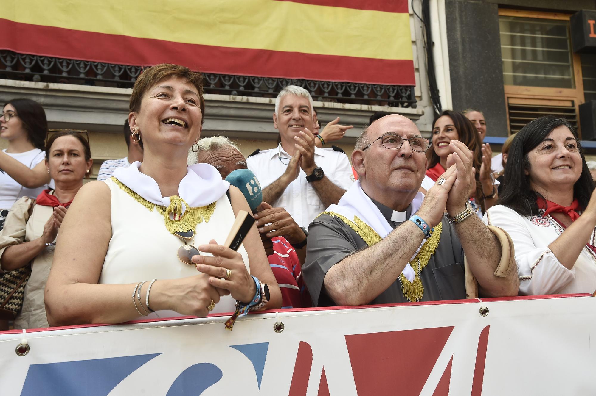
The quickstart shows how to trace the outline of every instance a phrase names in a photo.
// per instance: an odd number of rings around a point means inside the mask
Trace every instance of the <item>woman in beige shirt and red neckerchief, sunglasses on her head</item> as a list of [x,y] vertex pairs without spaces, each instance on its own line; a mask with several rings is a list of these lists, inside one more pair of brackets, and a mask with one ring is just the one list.
[[36,199],[17,200],[0,231],[0,269],[14,271],[31,265],[23,309],[14,320],[17,329],[48,327],[44,288],[54,258],[55,238],[93,163],[89,142],[73,131],[53,134],[45,156],[45,173],[52,176],[56,188],[42,191]]

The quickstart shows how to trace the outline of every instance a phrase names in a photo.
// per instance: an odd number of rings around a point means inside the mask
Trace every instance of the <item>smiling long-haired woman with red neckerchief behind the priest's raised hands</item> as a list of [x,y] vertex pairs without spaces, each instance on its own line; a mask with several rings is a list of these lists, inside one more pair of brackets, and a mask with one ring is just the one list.
[[[464,143],[474,154],[473,167],[476,169],[476,186],[470,190],[470,201],[480,216],[495,205],[497,198],[496,186],[498,182],[492,175],[491,147],[482,144],[476,127],[470,120],[457,111],[445,110],[433,121],[433,141],[426,152],[429,158],[429,169],[426,175],[436,181],[452,164],[447,164],[447,158],[452,153],[449,148],[451,140]],[[423,187],[425,184],[423,184]]]

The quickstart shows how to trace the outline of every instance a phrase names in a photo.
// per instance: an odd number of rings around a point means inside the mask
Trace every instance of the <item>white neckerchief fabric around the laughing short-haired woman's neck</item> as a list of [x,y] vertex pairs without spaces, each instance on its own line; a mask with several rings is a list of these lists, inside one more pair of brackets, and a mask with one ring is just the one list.
[[[135,161],[128,168],[114,169],[112,175],[149,202],[169,206],[170,197],[163,197],[157,182],[140,172],[139,166],[141,162]],[[191,208],[199,208],[218,200],[228,188],[229,182],[222,180],[215,167],[209,164],[194,164],[188,166],[187,175],[178,185],[178,194]]]

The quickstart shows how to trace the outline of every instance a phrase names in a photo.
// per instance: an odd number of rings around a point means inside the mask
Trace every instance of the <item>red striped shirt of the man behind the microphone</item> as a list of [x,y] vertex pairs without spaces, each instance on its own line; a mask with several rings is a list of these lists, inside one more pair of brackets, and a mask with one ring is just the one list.
[[296,250],[284,237],[272,238],[274,253],[269,255],[271,271],[280,285],[282,308],[312,307],[311,296],[300,276]]

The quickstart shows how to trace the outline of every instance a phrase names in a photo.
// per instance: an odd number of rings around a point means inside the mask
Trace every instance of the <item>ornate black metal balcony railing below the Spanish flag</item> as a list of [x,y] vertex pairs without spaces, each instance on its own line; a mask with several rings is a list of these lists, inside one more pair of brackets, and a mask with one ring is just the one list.
[[[140,66],[0,51],[0,78],[10,80],[131,88],[141,70]],[[416,107],[414,87],[411,86],[231,76],[213,73],[205,73],[204,76],[206,93],[275,98],[284,86],[292,84],[304,87],[311,93],[314,100],[324,102]]]

